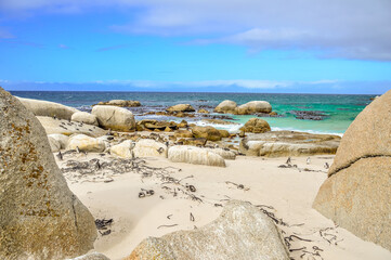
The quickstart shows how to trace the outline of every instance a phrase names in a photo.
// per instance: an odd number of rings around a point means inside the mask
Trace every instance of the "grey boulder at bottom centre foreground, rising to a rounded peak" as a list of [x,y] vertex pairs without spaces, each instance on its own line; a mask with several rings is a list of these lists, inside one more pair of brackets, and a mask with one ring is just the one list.
[[232,200],[211,223],[141,242],[125,260],[135,259],[275,259],[289,252],[278,227],[257,207]]

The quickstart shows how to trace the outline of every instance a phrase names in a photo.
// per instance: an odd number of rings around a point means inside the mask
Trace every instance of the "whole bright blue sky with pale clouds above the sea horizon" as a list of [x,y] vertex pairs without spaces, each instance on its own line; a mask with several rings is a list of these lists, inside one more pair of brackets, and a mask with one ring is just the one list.
[[0,0],[0,86],[381,94],[390,25],[390,0]]

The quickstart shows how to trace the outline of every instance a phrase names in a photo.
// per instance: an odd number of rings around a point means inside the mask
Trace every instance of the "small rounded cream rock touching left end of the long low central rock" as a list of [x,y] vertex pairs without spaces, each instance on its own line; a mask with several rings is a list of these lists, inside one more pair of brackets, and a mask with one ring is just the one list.
[[167,158],[167,146],[152,139],[141,139],[133,148],[136,157],[165,157]]

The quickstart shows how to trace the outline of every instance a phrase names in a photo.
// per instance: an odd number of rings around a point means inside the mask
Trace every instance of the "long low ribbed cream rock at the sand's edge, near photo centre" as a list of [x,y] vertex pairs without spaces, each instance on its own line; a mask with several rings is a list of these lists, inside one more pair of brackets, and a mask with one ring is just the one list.
[[177,145],[168,150],[168,159],[173,162],[225,167],[220,155],[195,146]]

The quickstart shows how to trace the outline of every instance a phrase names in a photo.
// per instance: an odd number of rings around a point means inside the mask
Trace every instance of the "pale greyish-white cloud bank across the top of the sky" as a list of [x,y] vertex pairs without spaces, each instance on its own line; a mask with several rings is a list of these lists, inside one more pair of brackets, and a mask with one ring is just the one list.
[[[133,10],[117,32],[192,37],[193,43],[311,51],[324,58],[391,61],[390,0],[4,0],[5,13]],[[138,10],[134,13],[134,10]],[[4,34],[3,34],[4,35]],[[1,37],[1,30],[0,30]]]

